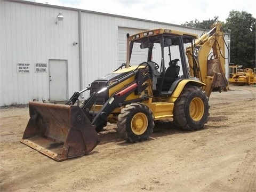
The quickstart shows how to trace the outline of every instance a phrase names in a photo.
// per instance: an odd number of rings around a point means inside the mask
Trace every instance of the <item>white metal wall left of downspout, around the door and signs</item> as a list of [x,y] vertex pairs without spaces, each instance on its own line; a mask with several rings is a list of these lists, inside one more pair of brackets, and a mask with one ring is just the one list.
[[[78,12],[17,2],[0,2],[1,100],[0,106],[49,99],[49,74],[35,73],[36,63],[68,60],[69,90],[79,88]],[[55,24],[59,12],[65,22]],[[18,63],[29,64],[29,73],[18,73]]]

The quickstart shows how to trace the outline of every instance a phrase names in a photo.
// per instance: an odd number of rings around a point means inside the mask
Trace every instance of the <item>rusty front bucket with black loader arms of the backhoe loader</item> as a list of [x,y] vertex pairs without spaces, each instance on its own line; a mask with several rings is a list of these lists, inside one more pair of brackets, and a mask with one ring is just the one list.
[[[146,81],[150,78],[149,71],[149,67],[146,66],[130,71],[91,94],[81,107],[75,106],[74,103],[78,101],[82,92],[91,87],[75,92],[67,103],[69,105],[29,102],[30,119],[20,142],[55,161],[64,161],[89,154],[100,142],[95,127],[106,121],[115,108],[133,102],[132,100],[126,101],[131,93],[140,95],[148,87]],[[135,76],[134,81],[112,94],[97,115],[91,119],[89,112],[99,94],[133,76]],[[147,98],[139,99],[137,102]]]

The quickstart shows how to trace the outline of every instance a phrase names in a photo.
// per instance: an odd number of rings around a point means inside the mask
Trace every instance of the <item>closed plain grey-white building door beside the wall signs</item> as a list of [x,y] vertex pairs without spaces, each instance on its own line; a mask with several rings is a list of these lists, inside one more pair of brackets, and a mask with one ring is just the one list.
[[68,97],[67,60],[49,60],[50,101]]

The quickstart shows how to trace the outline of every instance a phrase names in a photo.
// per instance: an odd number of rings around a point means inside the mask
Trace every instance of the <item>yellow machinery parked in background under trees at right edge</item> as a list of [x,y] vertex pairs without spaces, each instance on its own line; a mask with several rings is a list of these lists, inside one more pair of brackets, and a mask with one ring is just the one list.
[[228,82],[239,86],[256,84],[255,71],[251,68],[240,69],[241,67],[238,65],[229,65]]

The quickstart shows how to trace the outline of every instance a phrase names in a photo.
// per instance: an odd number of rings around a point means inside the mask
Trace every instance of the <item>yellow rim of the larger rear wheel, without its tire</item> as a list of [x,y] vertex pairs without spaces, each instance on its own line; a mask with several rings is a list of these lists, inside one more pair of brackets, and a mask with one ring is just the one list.
[[194,121],[200,121],[204,115],[204,102],[200,98],[194,98],[189,106],[190,117]]

